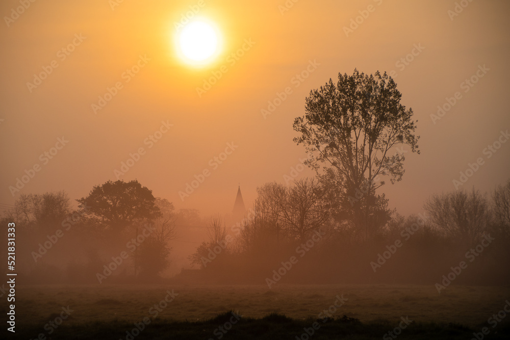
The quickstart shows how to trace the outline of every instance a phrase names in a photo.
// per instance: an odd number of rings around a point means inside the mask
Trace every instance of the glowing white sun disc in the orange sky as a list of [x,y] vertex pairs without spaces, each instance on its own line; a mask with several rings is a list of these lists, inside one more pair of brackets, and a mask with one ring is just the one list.
[[203,19],[189,22],[179,33],[182,58],[195,65],[208,64],[219,53],[219,32]]

